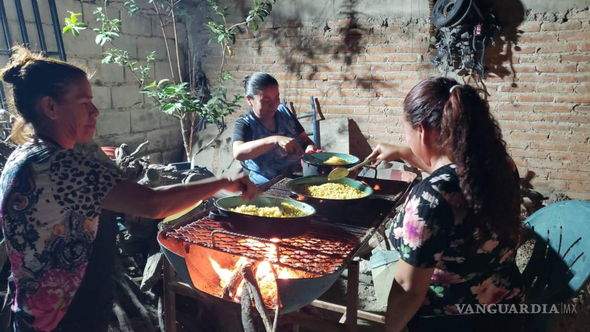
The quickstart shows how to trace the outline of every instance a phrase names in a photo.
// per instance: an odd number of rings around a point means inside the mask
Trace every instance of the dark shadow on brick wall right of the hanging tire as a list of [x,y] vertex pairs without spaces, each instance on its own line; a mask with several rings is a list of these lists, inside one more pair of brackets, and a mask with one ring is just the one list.
[[[491,0],[494,15],[501,30],[494,38],[496,45],[486,48],[484,64],[486,73],[492,73],[503,79],[506,76],[516,78],[516,71],[512,62],[512,52],[520,51],[518,46],[519,34],[523,31],[517,27],[525,19],[525,6],[520,0]],[[513,83],[516,86],[516,83]]]

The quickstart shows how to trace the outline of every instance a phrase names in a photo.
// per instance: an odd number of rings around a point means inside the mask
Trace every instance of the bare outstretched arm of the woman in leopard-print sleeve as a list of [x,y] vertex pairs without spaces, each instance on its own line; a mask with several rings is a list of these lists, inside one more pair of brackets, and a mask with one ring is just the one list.
[[188,209],[197,201],[207,199],[222,189],[242,191],[242,196],[248,199],[253,198],[259,192],[245,174],[234,179],[208,178],[187,184],[165,185],[157,188],[146,187],[132,181],[122,181],[109,191],[100,207],[136,216],[160,219]]

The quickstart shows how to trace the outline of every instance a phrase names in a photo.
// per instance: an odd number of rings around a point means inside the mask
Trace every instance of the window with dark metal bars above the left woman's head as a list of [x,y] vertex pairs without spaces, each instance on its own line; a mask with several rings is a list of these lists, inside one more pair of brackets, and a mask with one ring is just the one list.
[[[40,10],[40,5],[43,10]],[[24,44],[33,50],[43,51],[45,56],[59,57],[65,61],[64,43],[61,38],[55,0],[0,0],[0,21],[2,21],[2,37],[4,37],[0,38],[0,65],[2,67],[11,56],[11,47],[15,44]],[[37,34],[30,36],[28,30],[33,27]],[[19,33],[13,29],[18,30]],[[50,31],[44,31],[44,29]],[[52,31],[55,41],[49,40],[48,42],[45,39],[45,32],[51,35]],[[4,39],[3,43],[2,39]],[[5,108],[5,102],[6,93],[4,85],[0,82],[2,108]]]

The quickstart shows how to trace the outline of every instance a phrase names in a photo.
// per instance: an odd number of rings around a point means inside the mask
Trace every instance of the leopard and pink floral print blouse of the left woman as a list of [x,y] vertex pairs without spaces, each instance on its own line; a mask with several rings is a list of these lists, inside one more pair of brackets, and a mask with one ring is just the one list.
[[39,331],[63,318],[88,265],[100,202],[121,178],[53,142],[19,147],[0,178],[0,224],[12,264],[12,310]]

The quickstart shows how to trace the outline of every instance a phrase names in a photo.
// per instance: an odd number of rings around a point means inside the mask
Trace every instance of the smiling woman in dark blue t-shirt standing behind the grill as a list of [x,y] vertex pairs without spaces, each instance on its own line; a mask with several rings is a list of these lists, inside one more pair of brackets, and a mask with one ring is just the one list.
[[250,110],[235,122],[232,143],[250,180],[263,184],[300,165],[301,155],[316,146],[293,113],[280,101],[277,80],[267,73],[244,77]]

